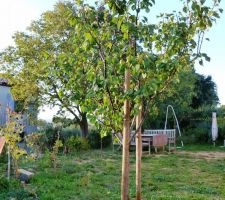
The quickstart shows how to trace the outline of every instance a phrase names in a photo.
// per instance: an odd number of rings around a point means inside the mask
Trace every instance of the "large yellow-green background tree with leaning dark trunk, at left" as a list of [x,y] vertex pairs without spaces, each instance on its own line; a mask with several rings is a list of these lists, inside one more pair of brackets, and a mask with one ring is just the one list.
[[[34,21],[28,32],[14,35],[15,46],[1,53],[0,63],[18,100],[35,98],[38,105],[59,106],[59,114],[70,113],[86,137],[87,113],[80,103],[90,87],[86,78],[88,64],[83,64],[82,57],[74,56],[81,53],[83,37],[78,36],[76,25],[69,23],[72,15],[72,3],[57,3],[53,11]],[[82,53],[88,56],[87,52]],[[65,69],[70,73],[65,73]]]

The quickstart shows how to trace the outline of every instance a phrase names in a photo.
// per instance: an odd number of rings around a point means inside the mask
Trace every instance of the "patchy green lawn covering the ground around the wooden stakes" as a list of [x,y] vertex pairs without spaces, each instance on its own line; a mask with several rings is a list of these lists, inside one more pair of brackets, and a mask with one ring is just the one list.
[[[208,157],[198,154],[209,153]],[[148,156],[142,159],[144,200],[225,199],[225,156],[212,158],[217,150],[211,147],[189,147],[173,154]],[[220,153],[225,149],[219,149]],[[135,198],[135,154],[131,153],[130,196]],[[98,150],[61,155],[53,169],[48,155],[24,167],[33,169],[30,184],[18,182],[0,192],[0,199],[40,200],[117,200],[120,199],[121,152]],[[20,188],[20,189],[19,189]],[[22,188],[22,189],[21,189]],[[22,194],[22,195],[20,195]],[[36,198],[37,199],[37,198]]]

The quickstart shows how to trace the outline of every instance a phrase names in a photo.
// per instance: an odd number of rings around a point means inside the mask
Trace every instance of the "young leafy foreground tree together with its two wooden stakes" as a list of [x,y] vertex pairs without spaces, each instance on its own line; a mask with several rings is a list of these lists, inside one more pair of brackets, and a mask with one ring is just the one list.
[[[182,12],[162,14],[157,24],[140,17],[141,11],[150,11],[153,0],[109,0],[108,7],[91,7],[77,1],[71,19],[80,30],[79,36],[85,36],[82,50],[90,53],[88,57],[80,56],[89,63],[86,75],[93,83],[83,107],[93,123],[101,122],[102,134],[123,132],[121,199],[129,199],[131,118],[140,114],[142,105],[162,93],[184,66],[193,66],[201,57],[208,60],[200,47],[204,31],[219,17],[218,1],[213,1],[213,8],[204,5],[205,1],[183,2]],[[137,121],[136,131],[140,134],[141,120]],[[136,149],[136,198],[141,199],[141,148]]]

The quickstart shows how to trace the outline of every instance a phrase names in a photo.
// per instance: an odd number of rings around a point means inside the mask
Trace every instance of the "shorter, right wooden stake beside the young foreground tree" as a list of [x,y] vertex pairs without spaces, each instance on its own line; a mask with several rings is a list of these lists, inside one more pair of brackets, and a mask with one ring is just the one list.
[[[142,110],[136,117],[136,130],[142,121]],[[142,156],[142,138],[141,127],[136,134],[136,200],[141,200],[141,156]]]

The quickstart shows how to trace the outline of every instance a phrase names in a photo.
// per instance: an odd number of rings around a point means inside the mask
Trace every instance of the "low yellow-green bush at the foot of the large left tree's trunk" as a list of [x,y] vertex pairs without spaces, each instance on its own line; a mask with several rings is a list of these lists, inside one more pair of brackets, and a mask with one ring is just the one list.
[[67,152],[88,150],[90,145],[88,140],[78,136],[71,136],[65,141],[65,147]]

